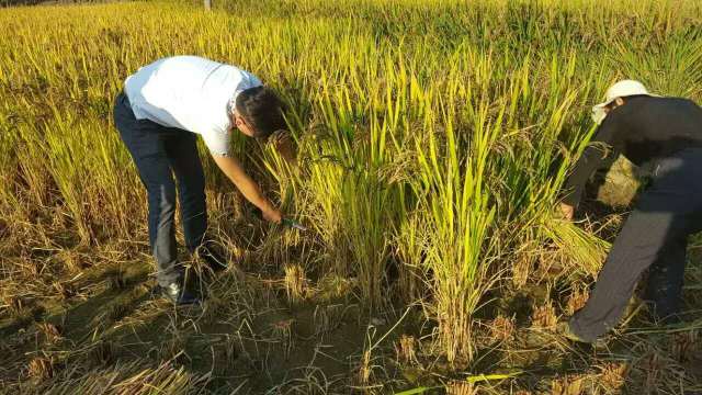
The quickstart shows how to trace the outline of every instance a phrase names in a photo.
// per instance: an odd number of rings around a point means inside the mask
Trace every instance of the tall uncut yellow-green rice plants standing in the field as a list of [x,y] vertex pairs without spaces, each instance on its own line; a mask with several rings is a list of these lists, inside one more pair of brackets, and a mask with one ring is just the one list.
[[[601,262],[607,245],[553,208],[605,87],[631,77],[702,94],[695,1],[220,7],[0,11],[0,213],[14,242],[146,239],[112,101],[147,63],[206,56],[251,70],[290,104],[298,167],[244,138],[235,151],[309,224],[299,237],[319,258],[306,269],[353,279],[371,313],[421,302],[448,359],[469,362],[496,282],[530,281],[546,246],[585,273]],[[228,199],[231,187],[205,167],[210,200]],[[69,221],[48,226],[56,216]]]

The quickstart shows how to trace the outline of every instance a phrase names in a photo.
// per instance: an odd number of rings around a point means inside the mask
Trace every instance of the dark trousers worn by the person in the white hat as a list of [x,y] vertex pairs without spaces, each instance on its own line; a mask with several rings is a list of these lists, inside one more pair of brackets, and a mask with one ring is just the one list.
[[702,149],[690,148],[654,166],[653,182],[626,219],[585,307],[570,329],[592,341],[614,327],[642,273],[645,300],[659,318],[680,309],[688,236],[702,230]]

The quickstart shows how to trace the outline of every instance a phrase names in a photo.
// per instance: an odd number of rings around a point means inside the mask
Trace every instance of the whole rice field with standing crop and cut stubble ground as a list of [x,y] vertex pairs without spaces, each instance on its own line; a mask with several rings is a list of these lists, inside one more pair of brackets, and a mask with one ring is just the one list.
[[[638,187],[619,161],[576,224],[555,215],[589,109],[620,78],[702,102],[702,3],[215,9],[0,9],[0,392],[702,392],[699,238],[684,325],[634,303],[608,348],[553,332]],[[112,121],[124,78],[177,54],[281,93],[298,166],[244,137],[235,151],[310,228],[257,219],[202,149],[211,233],[236,262],[201,283],[202,309],[150,296],[145,191]]]

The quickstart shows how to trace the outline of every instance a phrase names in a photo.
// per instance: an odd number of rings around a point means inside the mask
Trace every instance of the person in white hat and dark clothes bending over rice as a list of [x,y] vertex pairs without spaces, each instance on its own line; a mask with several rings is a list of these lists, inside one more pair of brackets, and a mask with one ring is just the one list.
[[607,257],[585,307],[561,330],[592,342],[614,327],[648,269],[645,300],[654,317],[672,321],[680,309],[688,236],[702,230],[702,109],[687,99],[660,98],[641,82],[624,80],[593,108],[600,124],[590,146],[566,181],[562,203],[570,219],[590,174],[613,155],[623,154],[650,170],[650,184],[638,196]]

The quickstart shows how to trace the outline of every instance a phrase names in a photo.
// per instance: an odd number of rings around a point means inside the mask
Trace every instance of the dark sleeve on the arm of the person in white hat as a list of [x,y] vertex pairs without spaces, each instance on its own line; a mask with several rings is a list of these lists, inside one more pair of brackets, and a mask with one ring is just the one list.
[[[613,115],[613,114],[611,114]],[[577,206],[582,198],[585,184],[592,173],[619,155],[621,147],[614,139],[618,124],[613,116],[604,119],[598,127],[595,138],[585,148],[580,159],[576,162],[573,172],[566,179],[564,185],[565,196],[563,203]]]

